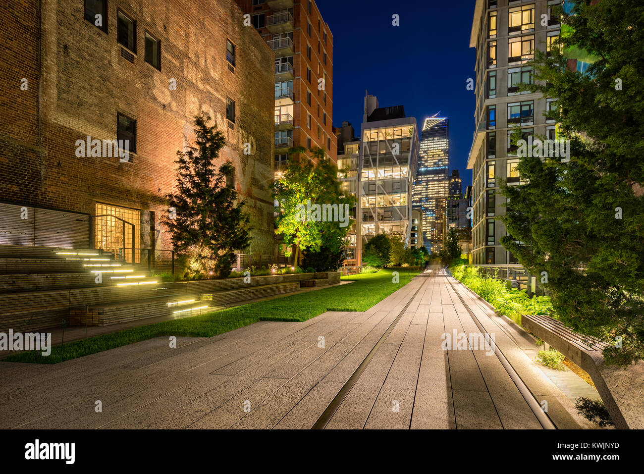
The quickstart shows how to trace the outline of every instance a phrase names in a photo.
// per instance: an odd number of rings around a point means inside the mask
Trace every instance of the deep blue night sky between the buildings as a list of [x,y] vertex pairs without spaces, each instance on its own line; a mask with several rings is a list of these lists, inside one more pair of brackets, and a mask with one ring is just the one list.
[[[450,119],[450,170],[465,186],[474,132],[475,48],[469,48],[474,0],[317,0],[334,35],[333,124],[360,133],[365,89],[381,107],[402,104],[419,126],[440,111]],[[400,26],[392,26],[398,14]]]

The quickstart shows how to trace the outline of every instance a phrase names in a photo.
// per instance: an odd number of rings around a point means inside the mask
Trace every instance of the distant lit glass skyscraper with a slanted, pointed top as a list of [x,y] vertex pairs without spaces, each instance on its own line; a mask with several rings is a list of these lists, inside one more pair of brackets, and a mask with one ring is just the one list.
[[421,211],[425,247],[442,249],[445,205],[450,193],[450,120],[428,117],[422,126],[419,162],[413,178],[413,208]]

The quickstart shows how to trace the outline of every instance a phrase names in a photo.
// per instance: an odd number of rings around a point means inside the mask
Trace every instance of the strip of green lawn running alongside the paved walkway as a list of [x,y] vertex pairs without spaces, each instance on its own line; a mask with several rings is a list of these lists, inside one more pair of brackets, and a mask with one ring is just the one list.
[[[419,273],[404,269],[395,270],[400,273],[401,287]],[[399,288],[399,285],[392,283],[392,271],[385,269],[377,273],[345,276],[342,277],[343,281],[353,283],[228,308],[223,313],[209,312],[200,316],[88,337],[81,341],[54,346],[52,354],[46,357],[40,352],[19,352],[5,360],[55,364],[152,337],[212,337],[258,321],[306,321],[327,311],[365,311]]]

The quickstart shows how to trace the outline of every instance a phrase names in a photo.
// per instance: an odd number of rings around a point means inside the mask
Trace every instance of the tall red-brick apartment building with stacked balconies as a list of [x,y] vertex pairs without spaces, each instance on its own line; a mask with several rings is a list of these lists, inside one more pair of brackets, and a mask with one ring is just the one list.
[[[291,146],[320,147],[337,161],[333,133],[333,35],[312,0],[236,0],[275,52],[275,171]],[[323,84],[319,86],[319,84]]]

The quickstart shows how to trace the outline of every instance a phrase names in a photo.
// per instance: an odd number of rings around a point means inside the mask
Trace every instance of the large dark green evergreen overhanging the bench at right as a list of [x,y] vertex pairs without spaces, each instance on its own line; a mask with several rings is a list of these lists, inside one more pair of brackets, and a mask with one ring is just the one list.
[[[586,74],[558,48],[535,52],[527,90],[556,98],[569,161],[526,156],[526,184],[504,185],[502,244],[540,278],[558,318],[612,343],[608,363],[644,358],[644,37],[640,0],[579,2],[562,15],[564,52],[585,50]],[[547,282],[545,281],[547,279]]]

